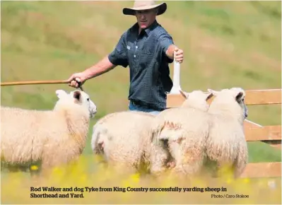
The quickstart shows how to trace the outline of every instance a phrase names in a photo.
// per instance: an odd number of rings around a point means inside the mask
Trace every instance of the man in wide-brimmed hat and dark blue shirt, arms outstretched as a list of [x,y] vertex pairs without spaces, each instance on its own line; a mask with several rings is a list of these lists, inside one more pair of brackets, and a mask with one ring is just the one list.
[[136,16],[135,23],[122,34],[114,51],[89,69],[72,74],[69,86],[78,88],[88,79],[100,76],[116,66],[129,66],[129,110],[157,114],[165,110],[166,92],[172,88],[168,64],[182,63],[183,51],[178,49],[168,32],[156,21],[165,13],[167,4],[135,1],[134,8],[124,8],[124,15]]

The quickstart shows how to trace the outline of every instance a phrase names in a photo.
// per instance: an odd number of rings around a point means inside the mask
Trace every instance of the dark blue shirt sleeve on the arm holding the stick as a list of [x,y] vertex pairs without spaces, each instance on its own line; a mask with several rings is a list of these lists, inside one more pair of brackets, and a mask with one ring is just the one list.
[[127,59],[127,44],[126,44],[127,33],[123,33],[117,42],[117,46],[108,55],[110,62],[116,66],[123,66],[126,68],[129,64]]

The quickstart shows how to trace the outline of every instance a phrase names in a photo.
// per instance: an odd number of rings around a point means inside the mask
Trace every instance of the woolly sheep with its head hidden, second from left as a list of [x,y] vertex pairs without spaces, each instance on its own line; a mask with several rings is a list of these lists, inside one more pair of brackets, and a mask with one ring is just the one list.
[[154,153],[169,160],[165,149],[152,146],[153,119],[154,115],[146,112],[124,111],[106,115],[93,127],[93,152],[115,168],[123,167],[128,172],[150,172]]

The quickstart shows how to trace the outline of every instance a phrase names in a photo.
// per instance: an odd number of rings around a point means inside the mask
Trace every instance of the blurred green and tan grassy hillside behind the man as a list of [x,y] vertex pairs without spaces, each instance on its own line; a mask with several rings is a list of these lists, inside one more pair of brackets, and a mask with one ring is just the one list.
[[[134,16],[122,15],[131,4],[1,1],[1,81],[61,80],[95,64],[135,23]],[[281,88],[281,2],[168,1],[158,22],[184,50],[182,89]],[[2,87],[1,104],[52,109],[56,89],[71,90],[66,85]],[[119,66],[86,82],[84,89],[98,105],[96,119],[127,110],[129,69]],[[281,107],[249,106],[249,119],[281,124]],[[266,144],[249,144],[249,152],[250,161],[281,161],[281,151]],[[85,153],[91,153],[89,143]]]

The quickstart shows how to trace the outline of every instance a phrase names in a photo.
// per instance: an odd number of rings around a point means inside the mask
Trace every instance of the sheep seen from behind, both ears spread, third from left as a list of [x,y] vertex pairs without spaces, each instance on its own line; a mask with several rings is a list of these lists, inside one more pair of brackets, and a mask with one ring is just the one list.
[[[164,110],[155,117],[153,141],[160,148],[165,148],[164,143],[168,144],[168,152],[175,162],[173,172],[192,175],[201,169],[205,159],[209,128],[207,100],[212,93],[201,90],[180,93],[186,98],[182,106]],[[164,162],[155,160],[152,164],[155,173],[165,170]]]

